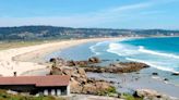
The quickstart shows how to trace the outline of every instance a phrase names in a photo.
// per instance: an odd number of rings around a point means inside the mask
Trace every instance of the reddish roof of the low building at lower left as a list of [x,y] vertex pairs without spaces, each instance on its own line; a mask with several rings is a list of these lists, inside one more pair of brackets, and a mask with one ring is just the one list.
[[68,86],[69,83],[70,76],[68,75],[0,77],[0,85],[35,85],[36,87],[47,87]]

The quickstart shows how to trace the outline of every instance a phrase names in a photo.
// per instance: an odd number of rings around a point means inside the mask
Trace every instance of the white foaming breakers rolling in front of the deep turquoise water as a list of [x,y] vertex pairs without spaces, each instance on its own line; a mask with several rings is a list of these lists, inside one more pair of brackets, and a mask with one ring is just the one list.
[[[153,67],[163,71],[178,72],[176,61],[179,55],[172,53],[165,53],[145,49],[143,46],[131,46],[126,43],[111,42],[108,46],[107,52],[124,57],[126,60],[146,63]],[[165,64],[164,61],[167,61]],[[169,63],[176,63],[170,65]]]

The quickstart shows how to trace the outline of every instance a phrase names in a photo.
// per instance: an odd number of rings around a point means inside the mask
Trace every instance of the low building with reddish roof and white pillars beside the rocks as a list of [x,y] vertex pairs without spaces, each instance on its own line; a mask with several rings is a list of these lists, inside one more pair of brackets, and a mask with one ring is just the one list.
[[70,76],[14,76],[0,77],[0,89],[28,92],[31,95],[68,96],[70,95]]

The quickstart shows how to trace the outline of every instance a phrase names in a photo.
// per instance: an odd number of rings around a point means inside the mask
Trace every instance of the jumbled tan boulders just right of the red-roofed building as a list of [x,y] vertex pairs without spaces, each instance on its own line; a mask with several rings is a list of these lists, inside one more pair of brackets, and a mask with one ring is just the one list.
[[50,75],[70,75],[72,93],[106,95],[108,92],[116,92],[110,83],[87,78],[82,67],[51,67]]

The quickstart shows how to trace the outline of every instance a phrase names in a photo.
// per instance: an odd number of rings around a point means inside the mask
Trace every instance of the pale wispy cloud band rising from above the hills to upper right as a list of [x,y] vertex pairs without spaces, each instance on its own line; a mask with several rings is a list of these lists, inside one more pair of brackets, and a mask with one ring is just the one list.
[[124,23],[124,21],[128,21],[130,17],[139,18],[140,15],[157,14],[160,11],[146,9],[153,9],[152,7],[154,5],[170,3],[171,1],[152,0],[69,16],[1,17],[0,26],[53,25],[71,27],[100,27],[105,24],[114,22]]

